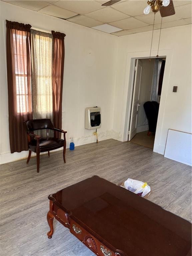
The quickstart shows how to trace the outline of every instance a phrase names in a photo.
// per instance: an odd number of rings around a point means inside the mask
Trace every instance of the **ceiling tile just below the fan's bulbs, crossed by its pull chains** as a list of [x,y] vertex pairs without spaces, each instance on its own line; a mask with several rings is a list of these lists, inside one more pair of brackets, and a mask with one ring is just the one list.
[[[154,13],[151,12],[147,15],[143,14],[143,15],[140,15],[140,16],[135,16],[136,19],[140,20],[140,21],[143,21],[149,25],[152,25],[153,24],[153,20],[154,20]],[[175,21],[175,20],[179,20],[181,19],[178,15],[174,14],[174,15],[171,15],[171,16],[168,16],[168,17],[163,17],[163,20],[162,22],[169,22],[169,21]],[[155,24],[158,24],[158,23],[161,23],[161,15],[160,15],[160,12],[157,12],[155,14]]]

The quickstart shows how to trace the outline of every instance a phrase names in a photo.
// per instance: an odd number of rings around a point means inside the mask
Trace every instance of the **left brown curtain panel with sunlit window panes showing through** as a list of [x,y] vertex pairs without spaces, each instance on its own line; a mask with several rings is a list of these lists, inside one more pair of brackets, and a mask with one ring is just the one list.
[[23,122],[32,119],[31,25],[6,20],[9,138],[11,153],[28,150]]

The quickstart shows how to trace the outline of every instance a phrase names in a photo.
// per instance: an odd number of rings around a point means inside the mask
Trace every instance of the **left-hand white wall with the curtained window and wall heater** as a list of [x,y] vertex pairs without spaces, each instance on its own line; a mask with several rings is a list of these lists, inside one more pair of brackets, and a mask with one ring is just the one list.
[[27,156],[26,151],[10,153],[6,19],[29,23],[35,28],[48,31],[55,30],[66,34],[62,129],[68,131],[67,146],[70,137],[74,138],[76,146],[96,141],[93,131],[84,128],[85,108],[91,106],[99,106],[102,111],[98,139],[111,138],[118,37],[2,1],[0,2],[0,9],[1,163]]

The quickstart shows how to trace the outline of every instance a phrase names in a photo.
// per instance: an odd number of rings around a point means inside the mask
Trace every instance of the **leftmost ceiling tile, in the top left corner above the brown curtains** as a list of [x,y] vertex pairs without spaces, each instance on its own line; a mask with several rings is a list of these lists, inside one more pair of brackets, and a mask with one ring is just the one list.
[[27,1],[27,0],[25,1],[24,0],[24,1],[5,1],[5,2],[18,5],[34,11],[37,11],[49,5],[49,3],[47,3],[46,1]]

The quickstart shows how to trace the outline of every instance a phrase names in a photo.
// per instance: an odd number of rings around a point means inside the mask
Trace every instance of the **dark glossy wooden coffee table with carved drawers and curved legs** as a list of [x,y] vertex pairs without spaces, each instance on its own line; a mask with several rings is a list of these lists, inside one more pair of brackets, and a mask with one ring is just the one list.
[[190,256],[191,223],[93,176],[50,195],[55,217],[99,256]]

